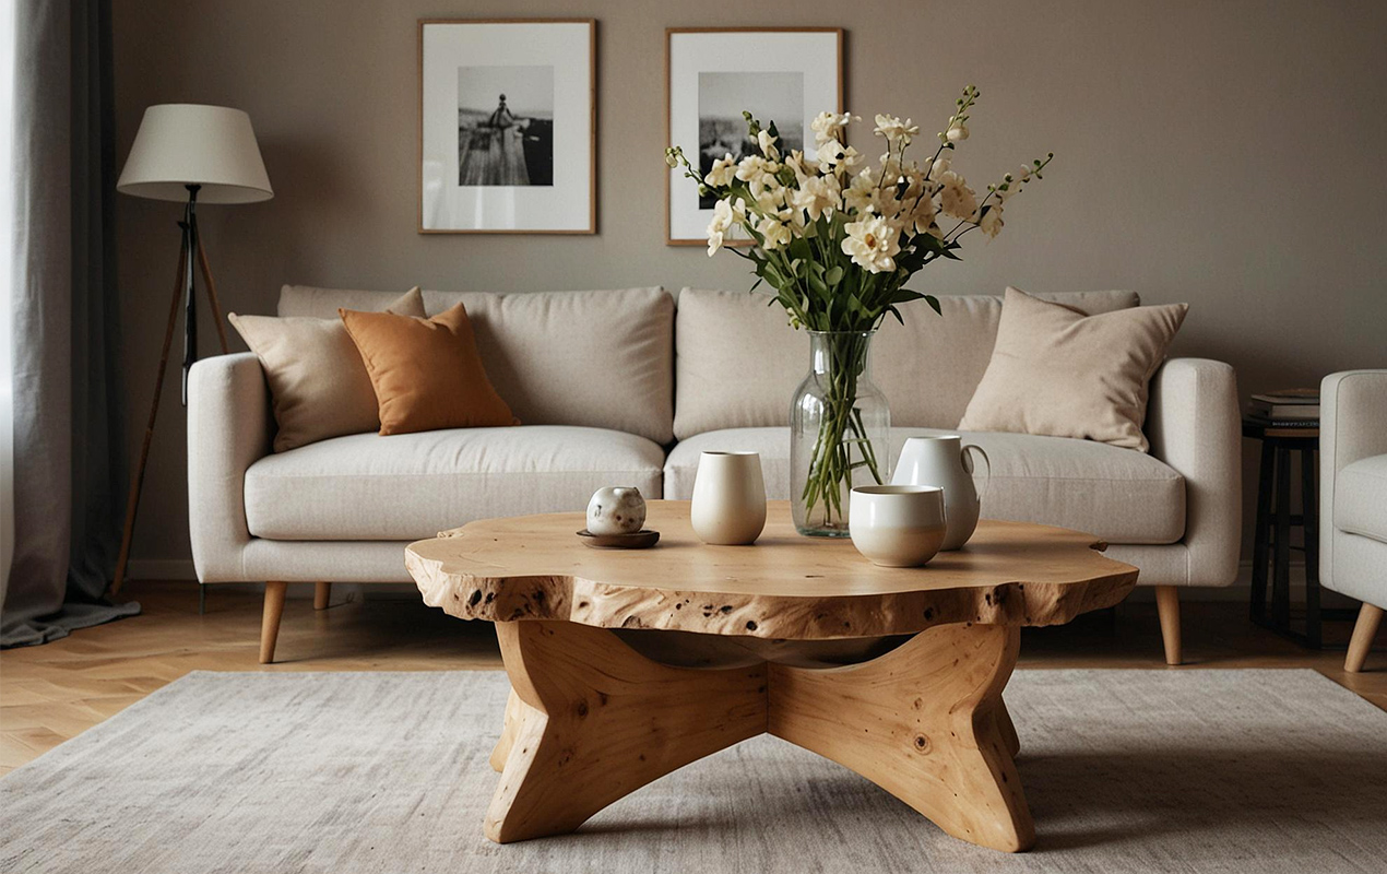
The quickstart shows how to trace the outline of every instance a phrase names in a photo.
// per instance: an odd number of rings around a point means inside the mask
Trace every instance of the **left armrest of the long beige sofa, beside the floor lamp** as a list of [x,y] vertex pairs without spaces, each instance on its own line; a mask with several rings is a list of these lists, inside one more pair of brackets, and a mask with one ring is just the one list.
[[204,358],[187,386],[187,515],[201,583],[245,580],[245,469],[270,452],[273,416],[259,359]]

